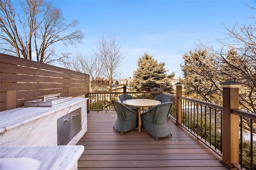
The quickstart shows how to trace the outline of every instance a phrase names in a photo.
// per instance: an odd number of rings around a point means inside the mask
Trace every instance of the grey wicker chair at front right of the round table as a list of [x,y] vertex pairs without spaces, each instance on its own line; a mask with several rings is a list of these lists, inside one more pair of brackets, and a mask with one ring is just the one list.
[[167,124],[172,102],[165,102],[151,107],[148,111],[141,114],[142,128],[150,135],[157,138],[172,136],[170,128]]

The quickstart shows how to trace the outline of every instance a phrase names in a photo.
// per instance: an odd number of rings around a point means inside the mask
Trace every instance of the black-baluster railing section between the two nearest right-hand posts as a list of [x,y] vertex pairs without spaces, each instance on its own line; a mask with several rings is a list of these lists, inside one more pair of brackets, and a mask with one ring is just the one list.
[[182,105],[179,125],[222,156],[222,106],[179,98]]

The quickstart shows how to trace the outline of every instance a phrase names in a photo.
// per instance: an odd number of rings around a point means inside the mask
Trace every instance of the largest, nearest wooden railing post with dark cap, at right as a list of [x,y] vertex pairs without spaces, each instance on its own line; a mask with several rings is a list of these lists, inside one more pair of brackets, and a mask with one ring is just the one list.
[[223,89],[223,121],[222,121],[222,161],[226,168],[239,164],[239,116],[231,114],[231,109],[239,109],[238,82],[220,83]]

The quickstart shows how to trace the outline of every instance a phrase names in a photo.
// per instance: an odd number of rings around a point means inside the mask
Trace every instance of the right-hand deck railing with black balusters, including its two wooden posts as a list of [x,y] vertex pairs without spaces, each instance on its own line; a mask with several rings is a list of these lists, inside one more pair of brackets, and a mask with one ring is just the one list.
[[[224,82],[223,106],[182,97],[182,84],[176,84],[176,125],[181,125],[217,154],[228,169],[256,169],[256,141],[253,122],[256,113],[239,110],[239,88],[236,82]],[[245,141],[244,121],[250,122],[250,140]],[[240,133],[240,136],[239,136]],[[240,142],[239,142],[240,141]],[[250,150],[243,151],[249,143]],[[248,160],[249,155],[249,160]],[[245,158],[247,156],[247,158]]]

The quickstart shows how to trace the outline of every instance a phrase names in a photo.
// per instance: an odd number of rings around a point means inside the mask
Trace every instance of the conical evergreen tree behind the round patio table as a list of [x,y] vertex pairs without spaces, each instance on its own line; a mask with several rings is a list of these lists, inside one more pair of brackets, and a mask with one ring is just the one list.
[[175,73],[167,75],[164,68],[165,63],[158,63],[152,55],[144,53],[138,59],[138,68],[134,71],[133,82],[130,84],[132,90],[139,92],[160,91],[160,84],[164,84],[165,92],[172,92],[173,87],[170,80],[174,78]]

